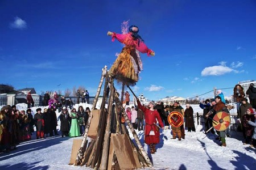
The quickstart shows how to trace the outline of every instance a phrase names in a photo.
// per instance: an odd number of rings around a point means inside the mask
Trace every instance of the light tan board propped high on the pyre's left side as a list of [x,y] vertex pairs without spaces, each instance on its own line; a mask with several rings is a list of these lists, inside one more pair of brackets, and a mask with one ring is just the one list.
[[88,137],[96,140],[98,124],[100,122],[101,110],[93,110],[92,112],[93,112],[93,114],[92,114],[92,120],[90,122],[90,127],[88,130]]

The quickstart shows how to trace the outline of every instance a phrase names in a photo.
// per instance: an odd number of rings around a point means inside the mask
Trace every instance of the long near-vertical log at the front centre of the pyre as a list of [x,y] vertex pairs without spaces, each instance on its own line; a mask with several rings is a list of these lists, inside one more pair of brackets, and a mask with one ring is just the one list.
[[113,99],[114,99],[114,88],[113,88],[113,80],[112,80],[112,82],[110,84],[110,97],[109,97],[109,102],[108,102],[108,118],[107,118],[106,130],[105,130],[105,135],[104,135],[102,156],[101,156],[101,161],[100,161],[100,159],[98,160],[97,169],[98,169],[98,167],[100,167],[100,169],[106,169],[107,164],[108,164]]

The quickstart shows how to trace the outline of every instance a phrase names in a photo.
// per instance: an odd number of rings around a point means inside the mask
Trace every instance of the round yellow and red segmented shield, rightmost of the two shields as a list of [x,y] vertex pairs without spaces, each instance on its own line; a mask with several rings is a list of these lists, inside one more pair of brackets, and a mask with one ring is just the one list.
[[213,117],[212,121],[213,128],[218,131],[226,130],[230,125],[230,116],[226,112],[218,112]]

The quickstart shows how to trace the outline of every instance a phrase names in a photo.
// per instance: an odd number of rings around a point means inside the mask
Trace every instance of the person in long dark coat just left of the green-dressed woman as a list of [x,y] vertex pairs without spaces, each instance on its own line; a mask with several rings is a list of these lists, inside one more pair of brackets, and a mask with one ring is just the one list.
[[60,130],[61,130],[61,137],[68,137],[70,125],[69,121],[71,120],[68,109],[64,108],[63,111],[60,113]]

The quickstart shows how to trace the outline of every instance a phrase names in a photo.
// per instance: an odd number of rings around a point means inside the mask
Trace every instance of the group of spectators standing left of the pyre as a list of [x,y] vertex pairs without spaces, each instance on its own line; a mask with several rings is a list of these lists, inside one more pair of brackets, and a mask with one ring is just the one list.
[[[49,99],[48,108],[36,109],[33,116],[31,108],[19,111],[16,106],[6,105],[0,112],[0,152],[15,150],[20,142],[31,140],[35,133],[36,139],[44,139],[59,135],[57,132],[56,101]],[[63,106],[59,112],[61,137],[78,137],[83,135],[90,109],[82,106],[78,111]],[[35,130],[34,130],[35,127]]]

